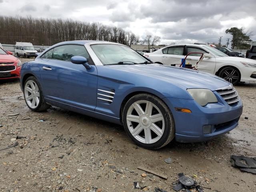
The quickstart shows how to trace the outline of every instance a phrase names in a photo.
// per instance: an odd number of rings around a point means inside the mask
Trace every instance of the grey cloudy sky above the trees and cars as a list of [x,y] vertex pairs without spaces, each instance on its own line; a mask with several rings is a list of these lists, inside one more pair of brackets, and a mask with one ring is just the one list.
[[0,15],[71,18],[131,30],[161,43],[218,42],[230,27],[244,27],[256,41],[255,0],[0,0]]

